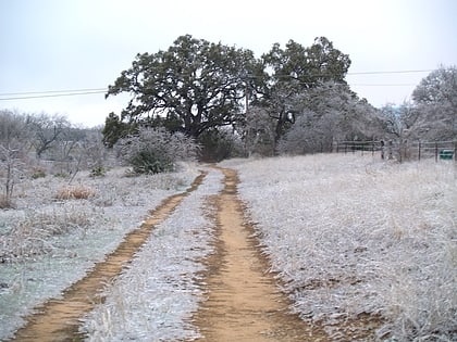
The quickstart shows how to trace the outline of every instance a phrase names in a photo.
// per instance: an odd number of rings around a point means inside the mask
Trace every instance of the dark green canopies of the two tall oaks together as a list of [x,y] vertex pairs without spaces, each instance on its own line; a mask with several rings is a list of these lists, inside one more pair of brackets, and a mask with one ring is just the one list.
[[245,124],[249,105],[269,107],[276,140],[288,119],[291,94],[325,81],[345,83],[348,55],[324,37],[305,48],[291,40],[256,59],[252,51],[190,35],[166,51],[137,54],[132,67],[109,86],[107,97],[128,92],[121,115],[110,114],[104,140],[112,145],[132,127],[162,126],[198,138],[203,131]]

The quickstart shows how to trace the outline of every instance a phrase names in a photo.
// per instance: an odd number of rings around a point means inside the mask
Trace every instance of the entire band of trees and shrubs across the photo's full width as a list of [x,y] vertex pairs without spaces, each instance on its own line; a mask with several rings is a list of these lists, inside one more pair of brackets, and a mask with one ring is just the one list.
[[165,51],[137,54],[106,97],[128,104],[101,129],[60,115],[0,111],[4,197],[30,154],[66,174],[100,173],[109,151],[135,173],[173,170],[183,159],[331,151],[335,141],[457,139],[457,68],[441,66],[410,102],[376,109],[346,81],[350,59],[325,37],[289,40],[256,58],[248,49],[178,37]]

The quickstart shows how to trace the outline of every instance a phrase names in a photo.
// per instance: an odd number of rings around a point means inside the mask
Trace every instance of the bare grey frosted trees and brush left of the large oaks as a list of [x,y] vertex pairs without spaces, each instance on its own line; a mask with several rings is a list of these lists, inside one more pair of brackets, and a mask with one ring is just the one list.
[[0,208],[12,206],[14,186],[24,178],[72,177],[81,169],[102,170],[108,151],[100,129],[79,128],[65,116],[0,111]]

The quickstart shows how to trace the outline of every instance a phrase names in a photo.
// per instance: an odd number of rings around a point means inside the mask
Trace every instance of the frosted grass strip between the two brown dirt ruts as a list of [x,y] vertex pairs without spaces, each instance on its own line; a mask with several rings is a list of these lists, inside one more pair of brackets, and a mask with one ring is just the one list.
[[220,172],[209,170],[200,187],[158,225],[106,291],[103,304],[84,318],[87,341],[176,341],[199,335],[190,324],[198,309],[202,259],[212,252],[214,223],[205,201],[222,190]]

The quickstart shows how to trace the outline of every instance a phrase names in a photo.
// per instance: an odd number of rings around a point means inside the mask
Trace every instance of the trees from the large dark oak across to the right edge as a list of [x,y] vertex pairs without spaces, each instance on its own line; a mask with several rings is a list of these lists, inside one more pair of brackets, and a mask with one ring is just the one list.
[[139,127],[182,132],[215,160],[244,154],[308,153],[335,140],[457,136],[456,68],[440,67],[400,106],[375,109],[350,90],[347,54],[325,37],[289,40],[256,58],[248,49],[178,37],[165,51],[137,54],[106,97],[128,105],[106,119],[113,147]]

